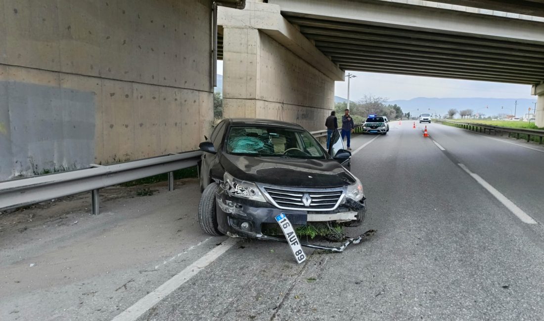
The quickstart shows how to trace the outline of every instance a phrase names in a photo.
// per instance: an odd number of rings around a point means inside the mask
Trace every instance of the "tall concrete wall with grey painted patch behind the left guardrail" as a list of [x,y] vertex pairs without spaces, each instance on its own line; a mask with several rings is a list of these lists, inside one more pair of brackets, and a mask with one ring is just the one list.
[[196,149],[212,1],[0,1],[0,180]]

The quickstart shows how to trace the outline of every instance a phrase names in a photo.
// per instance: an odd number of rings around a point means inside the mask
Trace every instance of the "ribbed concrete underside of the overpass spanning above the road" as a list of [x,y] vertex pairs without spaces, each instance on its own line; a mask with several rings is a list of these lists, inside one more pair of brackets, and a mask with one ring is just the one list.
[[[446,2],[457,7],[433,7],[428,1],[269,0],[258,10],[279,6],[282,18],[343,71],[525,84],[533,85],[533,95],[539,95],[544,83],[544,19],[519,14],[544,16],[544,0]],[[484,14],[459,5],[518,15]],[[268,26],[252,28],[270,33]],[[541,127],[543,101],[539,97],[536,115]]]

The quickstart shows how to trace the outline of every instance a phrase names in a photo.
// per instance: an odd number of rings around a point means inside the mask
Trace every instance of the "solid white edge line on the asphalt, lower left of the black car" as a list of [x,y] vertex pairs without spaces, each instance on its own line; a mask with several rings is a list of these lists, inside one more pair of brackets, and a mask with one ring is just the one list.
[[151,307],[159,303],[160,300],[174,292],[175,289],[199,273],[200,270],[210,265],[221,254],[225,253],[234,244],[238,243],[238,241],[239,240],[236,238],[227,238],[227,240],[223,241],[221,245],[215,247],[206,253],[206,255],[196,260],[193,264],[184,268],[180,273],[174,275],[173,278],[166,281],[163,285],[141,298],[127,310],[121,312],[118,316],[113,318],[112,321],[133,321],[138,319],[144,312],[151,309]]

